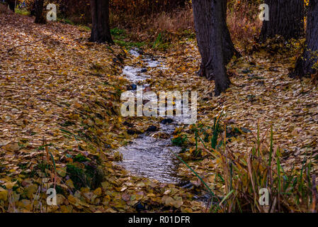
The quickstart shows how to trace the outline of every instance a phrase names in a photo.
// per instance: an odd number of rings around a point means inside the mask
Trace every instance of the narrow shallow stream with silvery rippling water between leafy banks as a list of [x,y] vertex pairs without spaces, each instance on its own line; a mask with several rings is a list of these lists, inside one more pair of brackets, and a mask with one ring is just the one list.
[[[140,57],[138,50],[130,50],[130,55],[135,58]],[[149,79],[151,70],[166,69],[163,62],[153,57],[144,57],[140,60],[147,64],[147,69],[132,66],[125,66],[123,69],[123,76],[132,84],[140,84]],[[148,87],[149,84],[142,84],[142,86]],[[122,165],[133,175],[157,179],[162,183],[180,183],[181,179],[176,173],[179,161],[173,153],[180,153],[181,148],[172,145],[171,137],[181,121],[180,117],[175,116],[161,121],[156,133],[164,133],[168,135],[167,138],[154,138],[152,133],[143,133],[129,145],[119,148],[118,151],[123,154],[123,161],[117,162],[118,165]]]

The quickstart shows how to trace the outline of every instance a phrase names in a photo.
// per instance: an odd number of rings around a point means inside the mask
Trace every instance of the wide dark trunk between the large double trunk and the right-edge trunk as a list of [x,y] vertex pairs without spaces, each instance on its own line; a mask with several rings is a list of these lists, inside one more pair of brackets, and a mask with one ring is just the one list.
[[260,40],[282,35],[285,40],[304,34],[304,0],[265,0],[269,21],[263,21]]

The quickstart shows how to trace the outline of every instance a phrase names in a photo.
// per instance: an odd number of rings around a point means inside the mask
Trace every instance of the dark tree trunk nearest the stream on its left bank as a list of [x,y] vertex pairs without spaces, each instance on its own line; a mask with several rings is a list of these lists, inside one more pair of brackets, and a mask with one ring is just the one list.
[[109,0],[91,0],[91,42],[111,43],[109,28]]

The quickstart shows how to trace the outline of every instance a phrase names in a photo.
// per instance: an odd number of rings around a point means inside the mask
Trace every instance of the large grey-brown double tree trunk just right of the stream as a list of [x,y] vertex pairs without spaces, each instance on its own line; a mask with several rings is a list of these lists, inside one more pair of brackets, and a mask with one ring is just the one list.
[[215,95],[229,87],[225,65],[235,50],[226,23],[227,0],[193,0],[193,16],[202,58],[199,74],[215,80]]

